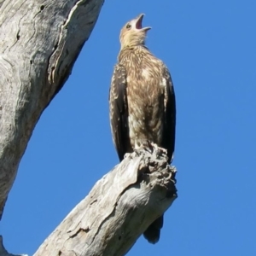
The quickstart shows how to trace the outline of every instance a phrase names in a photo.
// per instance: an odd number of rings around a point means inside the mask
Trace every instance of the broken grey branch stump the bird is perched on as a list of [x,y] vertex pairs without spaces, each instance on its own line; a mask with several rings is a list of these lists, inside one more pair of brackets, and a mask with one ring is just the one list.
[[175,173],[158,148],[152,154],[144,149],[127,154],[74,207],[34,256],[124,255],[176,199]]

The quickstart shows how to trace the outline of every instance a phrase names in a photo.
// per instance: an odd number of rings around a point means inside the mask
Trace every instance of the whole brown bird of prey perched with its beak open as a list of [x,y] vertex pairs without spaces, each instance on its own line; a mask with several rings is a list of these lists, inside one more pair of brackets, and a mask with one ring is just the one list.
[[[171,164],[175,148],[176,100],[171,74],[163,61],[145,45],[150,26],[144,14],[121,29],[118,62],[109,89],[109,116],[119,160],[147,143],[165,148]],[[143,236],[150,243],[160,239],[163,215]]]

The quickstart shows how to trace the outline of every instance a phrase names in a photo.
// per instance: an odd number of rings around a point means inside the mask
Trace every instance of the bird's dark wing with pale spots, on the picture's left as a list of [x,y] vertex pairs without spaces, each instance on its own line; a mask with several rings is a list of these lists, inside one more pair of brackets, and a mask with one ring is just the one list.
[[124,159],[128,143],[128,107],[126,96],[126,70],[117,64],[113,70],[109,90],[109,114],[113,143],[119,155]]

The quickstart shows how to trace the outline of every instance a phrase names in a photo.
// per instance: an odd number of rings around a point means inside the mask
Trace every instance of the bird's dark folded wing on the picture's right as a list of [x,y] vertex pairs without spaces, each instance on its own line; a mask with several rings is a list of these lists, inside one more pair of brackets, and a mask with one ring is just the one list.
[[176,101],[172,77],[165,65],[163,66],[163,79],[166,80],[163,147],[167,149],[169,162],[172,162],[175,148]]

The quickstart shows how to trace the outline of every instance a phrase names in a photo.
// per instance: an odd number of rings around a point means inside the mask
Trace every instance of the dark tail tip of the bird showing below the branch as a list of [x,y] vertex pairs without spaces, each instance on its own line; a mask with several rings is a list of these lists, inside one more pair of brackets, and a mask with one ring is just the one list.
[[160,239],[160,229],[163,227],[164,224],[164,215],[160,216],[154,220],[154,223],[150,224],[148,229],[143,233],[143,236],[150,242],[150,243],[157,243]]

